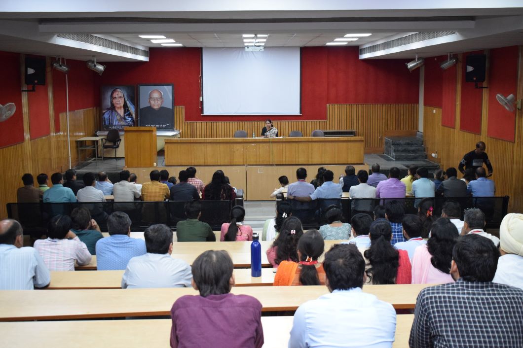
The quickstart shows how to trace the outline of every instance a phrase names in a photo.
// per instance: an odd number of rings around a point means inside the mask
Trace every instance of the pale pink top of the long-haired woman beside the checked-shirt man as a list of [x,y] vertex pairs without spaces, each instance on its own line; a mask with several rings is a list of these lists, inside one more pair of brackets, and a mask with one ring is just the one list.
[[412,284],[453,283],[450,274],[441,272],[430,263],[431,257],[427,245],[416,248],[412,258]]

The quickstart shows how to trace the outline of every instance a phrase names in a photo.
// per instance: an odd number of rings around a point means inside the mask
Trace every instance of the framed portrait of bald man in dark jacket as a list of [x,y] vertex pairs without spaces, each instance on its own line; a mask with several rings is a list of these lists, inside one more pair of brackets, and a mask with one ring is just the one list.
[[174,85],[138,85],[138,124],[156,129],[174,129]]

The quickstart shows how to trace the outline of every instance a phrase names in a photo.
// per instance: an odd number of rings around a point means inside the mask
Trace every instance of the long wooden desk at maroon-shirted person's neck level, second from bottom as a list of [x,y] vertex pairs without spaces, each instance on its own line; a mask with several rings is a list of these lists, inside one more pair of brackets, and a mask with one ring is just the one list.
[[[419,292],[427,286],[365,285],[363,292],[396,309],[405,309],[414,308]],[[234,287],[232,293],[257,298],[263,311],[285,311],[296,310],[304,302],[327,294],[328,289],[321,285],[244,286]],[[0,291],[0,321],[168,315],[177,298],[197,294],[192,288]]]

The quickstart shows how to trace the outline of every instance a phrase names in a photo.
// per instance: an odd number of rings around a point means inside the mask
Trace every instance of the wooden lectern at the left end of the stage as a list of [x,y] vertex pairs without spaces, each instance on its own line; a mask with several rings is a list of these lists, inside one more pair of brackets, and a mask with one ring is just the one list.
[[126,167],[156,167],[156,127],[125,127]]

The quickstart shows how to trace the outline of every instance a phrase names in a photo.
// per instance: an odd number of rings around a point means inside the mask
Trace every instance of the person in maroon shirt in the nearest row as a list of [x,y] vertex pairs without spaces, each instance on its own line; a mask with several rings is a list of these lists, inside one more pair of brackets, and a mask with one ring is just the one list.
[[233,263],[226,251],[208,250],[192,264],[192,287],[200,295],[178,298],[170,310],[170,346],[260,348],[261,304],[247,295],[231,294]]

